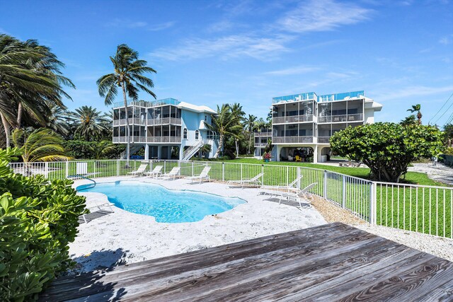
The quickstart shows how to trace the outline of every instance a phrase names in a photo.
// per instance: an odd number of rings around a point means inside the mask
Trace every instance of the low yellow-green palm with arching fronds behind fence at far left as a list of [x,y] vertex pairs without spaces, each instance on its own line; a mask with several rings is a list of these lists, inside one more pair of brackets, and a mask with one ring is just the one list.
[[25,175],[30,175],[27,163],[69,160],[68,156],[64,156],[62,138],[51,129],[40,128],[30,133],[24,129],[15,129],[11,134],[11,141],[14,146],[21,148]]

